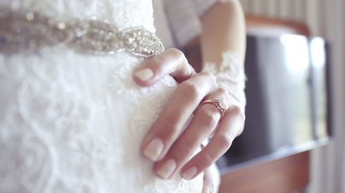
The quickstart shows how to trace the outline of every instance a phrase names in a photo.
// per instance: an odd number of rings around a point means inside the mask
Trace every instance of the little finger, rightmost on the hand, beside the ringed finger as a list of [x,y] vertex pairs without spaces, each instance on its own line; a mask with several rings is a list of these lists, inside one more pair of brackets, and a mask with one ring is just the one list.
[[[244,115],[238,106],[230,106],[224,118],[219,122],[215,135],[210,143],[201,150],[193,159],[181,169],[181,176],[184,179],[193,179],[200,172],[203,172],[221,155],[223,155],[233,143],[233,139],[244,126]],[[193,174],[191,174],[193,170]]]

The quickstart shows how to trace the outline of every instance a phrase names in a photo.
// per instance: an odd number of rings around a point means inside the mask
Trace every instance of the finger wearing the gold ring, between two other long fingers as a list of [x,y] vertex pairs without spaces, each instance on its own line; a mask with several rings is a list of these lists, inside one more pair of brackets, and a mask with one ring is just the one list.
[[[224,89],[216,89],[206,98],[227,98],[228,95]],[[206,137],[210,136],[215,130],[219,119],[219,110],[213,104],[204,104],[199,107],[193,120],[187,128],[172,144],[168,153],[163,159],[155,163],[155,171],[159,177],[168,179],[175,171],[178,171],[192,157]],[[174,163],[173,168],[168,168],[168,164]],[[185,175],[185,178],[193,177],[196,168],[191,168]]]

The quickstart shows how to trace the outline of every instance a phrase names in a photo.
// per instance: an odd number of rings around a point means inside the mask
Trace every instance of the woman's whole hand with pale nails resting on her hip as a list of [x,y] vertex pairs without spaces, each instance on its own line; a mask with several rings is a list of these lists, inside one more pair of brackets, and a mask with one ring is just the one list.
[[[169,179],[180,170],[184,179],[193,179],[221,157],[242,132],[244,113],[231,104],[225,89],[217,87],[212,73],[195,73],[178,49],[166,49],[146,59],[133,78],[137,84],[147,87],[167,74],[180,84],[144,137],[141,152],[155,161],[155,172],[162,179]],[[205,100],[220,99],[230,104],[223,117],[213,104],[200,105]],[[193,118],[184,129],[191,115]],[[193,157],[201,142],[211,134],[208,145]]]

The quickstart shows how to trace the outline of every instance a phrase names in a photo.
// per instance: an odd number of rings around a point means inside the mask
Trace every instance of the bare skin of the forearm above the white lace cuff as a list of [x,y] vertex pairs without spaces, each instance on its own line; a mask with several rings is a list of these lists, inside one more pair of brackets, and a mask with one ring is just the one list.
[[246,26],[239,1],[217,2],[201,16],[201,53],[204,62],[219,65],[221,54],[232,51],[244,62]]

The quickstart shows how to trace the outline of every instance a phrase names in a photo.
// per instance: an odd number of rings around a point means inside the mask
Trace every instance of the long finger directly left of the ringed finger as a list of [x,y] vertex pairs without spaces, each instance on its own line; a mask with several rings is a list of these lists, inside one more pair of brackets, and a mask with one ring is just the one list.
[[163,158],[200,101],[215,87],[215,77],[210,73],[199,73],[179,84],[163,112],[144,137],[141,146],[144,156],[152,161]]

